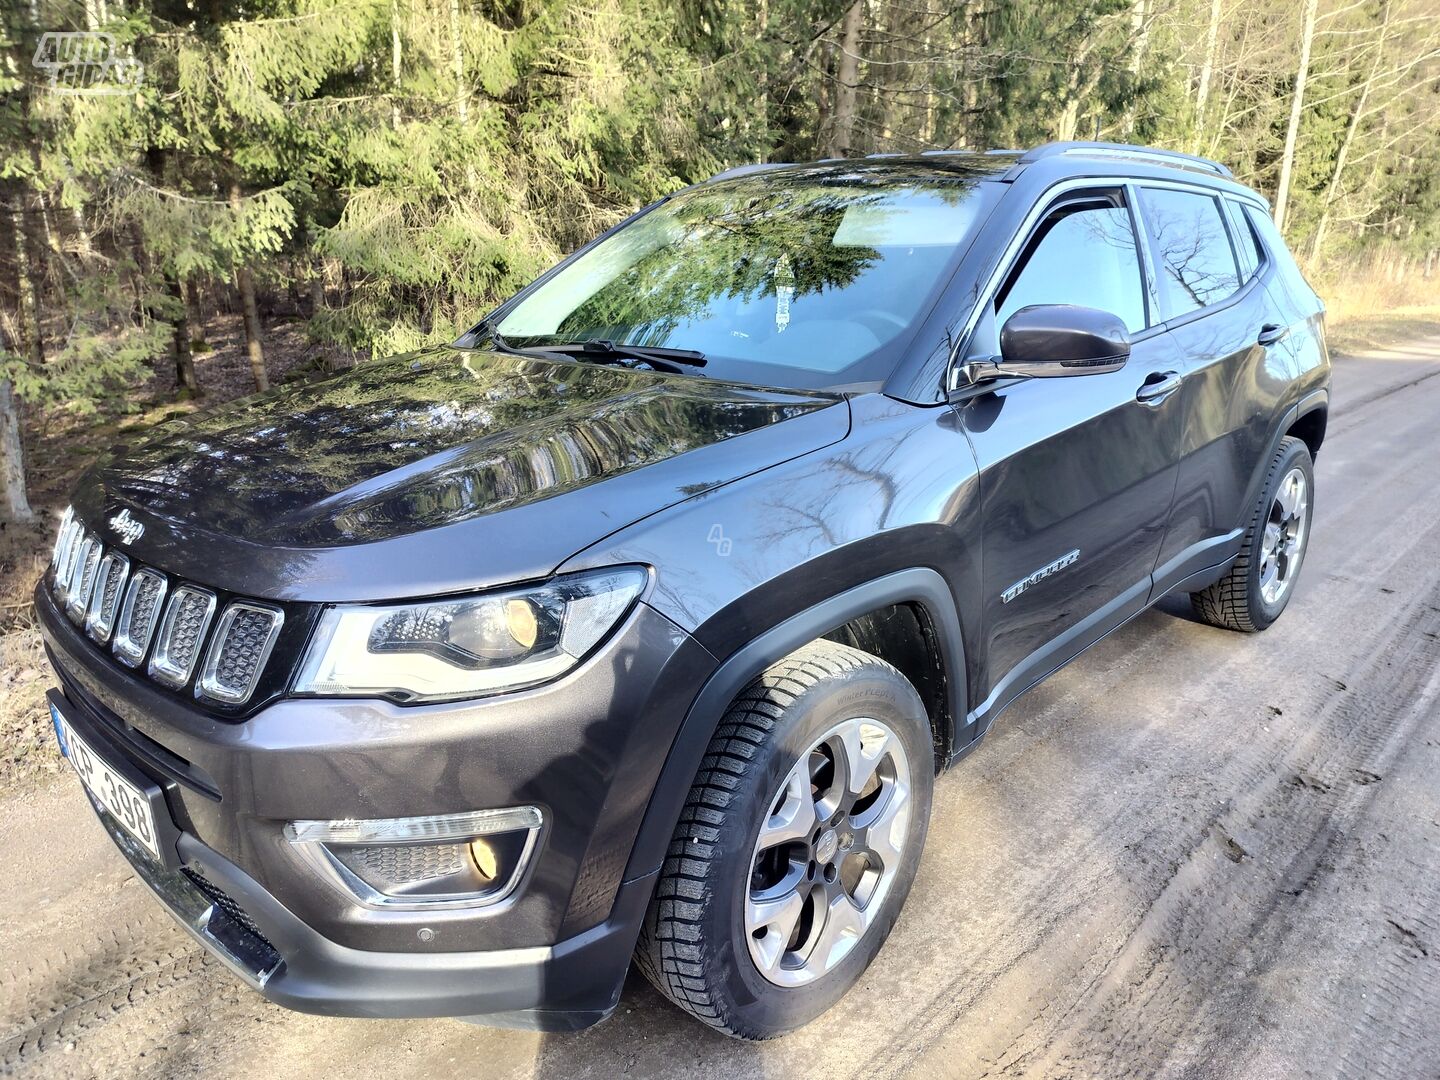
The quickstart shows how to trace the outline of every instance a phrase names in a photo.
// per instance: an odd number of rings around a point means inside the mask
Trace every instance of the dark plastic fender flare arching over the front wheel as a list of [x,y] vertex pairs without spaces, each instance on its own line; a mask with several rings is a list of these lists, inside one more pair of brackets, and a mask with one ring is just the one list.
[[952,740],[948,744],[958,746],[953,742],[958,736],[963,742],[960,733],[968,717],[965,642],[955,598],[945,579],[929,567],[912,567],[857,585],[765,631],[730,654],[710,675],[670,746],[625,867],[625,881],[660,870],[710,739],[730,703],[750,680],[815,638],[890,603],[917,603],[930,616],[945,664],[950,724],[958,729],[948,733]]

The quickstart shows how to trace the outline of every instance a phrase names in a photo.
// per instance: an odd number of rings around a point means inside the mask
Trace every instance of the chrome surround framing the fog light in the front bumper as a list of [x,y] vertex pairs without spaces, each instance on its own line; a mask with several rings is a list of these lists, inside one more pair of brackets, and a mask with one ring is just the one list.
[[[343,818],[333,821],[292,821],[285,825],[285,840],[323,878],[337,886],[347,899],[363,907],[383,912],[433,912],[469,907],[494,912],[507,906],[524,881],[544,828],[539,806],[433,814],[415,818]],[[514,868],[501,886],[482,893],[389,894],[382,893],[347,867],[330,844],[344,847],[387,847],[406,844],[468,844],[482,837],[526,832]]]

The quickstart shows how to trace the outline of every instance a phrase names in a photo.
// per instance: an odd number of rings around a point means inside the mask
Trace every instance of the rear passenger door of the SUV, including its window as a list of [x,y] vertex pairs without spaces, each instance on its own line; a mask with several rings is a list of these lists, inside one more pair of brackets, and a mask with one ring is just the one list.
[[1266,287],[1273,266],[1227,196],[1145,183],[1161,315],[1184,370],[1184,432],[1156,595],[1237,550],[1250,481],[1295,377],[1286,320]]

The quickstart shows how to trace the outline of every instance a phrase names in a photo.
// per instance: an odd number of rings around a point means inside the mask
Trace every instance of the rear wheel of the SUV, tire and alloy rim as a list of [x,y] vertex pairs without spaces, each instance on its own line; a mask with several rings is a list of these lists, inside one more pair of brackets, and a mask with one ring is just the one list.
[[[1313,492],[1309,448],[1296,438],[1282,439],[1234,566],[1208,589],[1191,593],[1191,605],[1202,622],[1254,634],[1280,618],[1305,563]],[[1296,497],[1299,504],[1292,505]]]

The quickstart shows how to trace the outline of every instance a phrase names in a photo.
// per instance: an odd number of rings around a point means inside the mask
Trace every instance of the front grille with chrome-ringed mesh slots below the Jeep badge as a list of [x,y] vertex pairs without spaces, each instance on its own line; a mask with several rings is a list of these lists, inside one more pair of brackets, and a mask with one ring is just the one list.
[[107,552],[73,510],[60,521],[50,567],[60,608],[99,645],[109,642],[115,660],[171,690],[194,677],[196,696],[222,706],[255,693],[285,622],[279,608],[243,598],[217,612],[212,590]]

